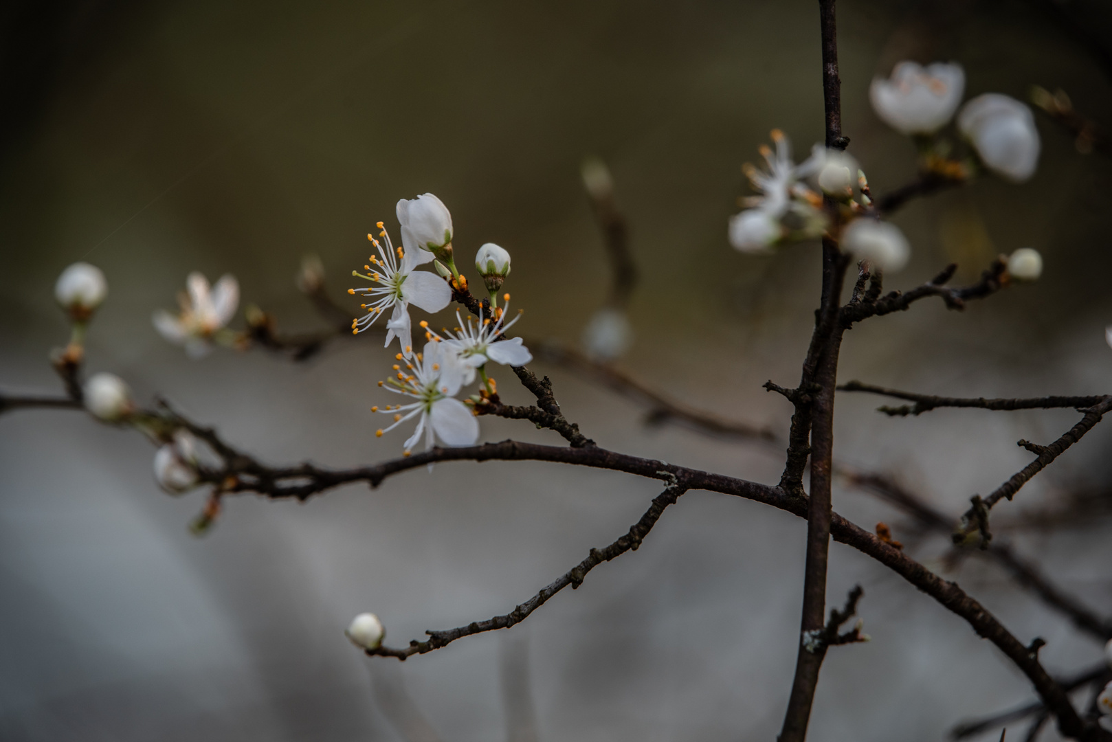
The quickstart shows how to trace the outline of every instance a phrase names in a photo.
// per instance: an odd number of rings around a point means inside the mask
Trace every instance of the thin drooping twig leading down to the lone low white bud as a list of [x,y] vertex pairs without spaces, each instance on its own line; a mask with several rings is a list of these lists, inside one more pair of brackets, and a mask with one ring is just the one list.
[[457,639],[463,639],[464,636],[470,636],[486,631],[495,631],[497,629],[509,629],[510,626],[525,621],[529,614],[544,605],[548,598],[568,585],[572,585],[572,590],[578,587],[583,583],[584,577],[587,576],[587,573],[603,562],[609,562],[616,556],[620,556],[628,551],[636,551],[641,546],[641,542],[648,535],[648,532],[653,530],[654,525],[656,525],[656,522],[661,518],[664,509],[668,505],[674,504],[682,494],[684,494],[684,489],[679,487],[671,485],[666,487],[663,493],[653,499],[653,504],[649,506],[648,511],[641,516],[641,520],[629,526],[628,533],[622,535],[617,541],[605,548],[592,548],[587,558],[579,562],[565,574],[557,577],[555,582],[545,586],[539,593],[522,603],[506,615],[495,616],[488,621],[469,623],[466,626],[448,631],[425,632],[429,636],[428,640],[424,642],[411,641],[409,642],[409,646],[404,650],[380,646],[375,650],[365,651],[370,655],[383,655],[405,660],[414,654],[425,654],[426,652],[438,650],[441,646],[447,646],[451,642]]

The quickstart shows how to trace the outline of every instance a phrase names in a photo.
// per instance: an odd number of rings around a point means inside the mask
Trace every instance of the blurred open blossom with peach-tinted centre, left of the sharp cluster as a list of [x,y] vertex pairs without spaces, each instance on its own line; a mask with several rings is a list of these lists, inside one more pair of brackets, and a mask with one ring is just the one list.
[[177,316],[160,309],[155,313],[155,328],[171,343],[186,346],[191,358],[212,349],[212,339],[231,321],[239,306],[239,283],[225,275],[209,288],[208,279],[193,271],[186,279],[187,294],[178,295],[181,310]]

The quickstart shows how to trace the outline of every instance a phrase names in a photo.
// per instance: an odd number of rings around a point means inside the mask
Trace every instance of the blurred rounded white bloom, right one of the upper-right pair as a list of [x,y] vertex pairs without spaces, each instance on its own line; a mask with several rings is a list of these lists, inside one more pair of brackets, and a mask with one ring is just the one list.
[[962,107],[957,128],[981,161],[1009,180],[1023,182],[1039,164],[1039,130],[1031,109],[1007,96],[986,92]]

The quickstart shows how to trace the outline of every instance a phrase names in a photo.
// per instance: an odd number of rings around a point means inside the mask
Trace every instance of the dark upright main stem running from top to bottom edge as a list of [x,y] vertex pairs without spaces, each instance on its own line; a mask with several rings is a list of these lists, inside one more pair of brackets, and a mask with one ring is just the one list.
[[[835,0],[818,0],[818,19],[823,51],[823,102],[826,111],[826,146],[845,149],[850,140],[842,136],[841,80],[837,71],[837,32]],[[803,742],[811,719],[811,705],[818,684],[818,671],[826,656],[824,642],[814,641],[824,630],[826,611],[826,563],[831,535],[831,469],[834,449],[834,388],[837,383],[837,357],[843,328],[837,321],[842,286],[848,260],[838,250],[837,241],[823,239],[823,294],[808,360],[815,365],[808,376],[804,365],[801,400],[810,406],[804,412],[796,404],[796,417],[810,418],[811,426],[811,496],[807,507],[807,555],[804,568],[803,611],[800,621],[800,649],[795,661],[792,694],[784,714],[780,742]],[[795,421],[793,419],[793,428]],[[793,436],[801,432],[793,429]],[[788,474],[785,472],[785,474]]]

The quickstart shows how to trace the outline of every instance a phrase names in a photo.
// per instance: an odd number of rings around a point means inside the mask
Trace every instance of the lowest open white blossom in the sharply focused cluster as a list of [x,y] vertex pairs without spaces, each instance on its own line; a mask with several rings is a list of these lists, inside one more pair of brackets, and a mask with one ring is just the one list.
[[394,370],[396,375],[380,386],[413,397],[416,402],[385,409],[374,408],[375,412],[394,415],[394,424],[375,435],[381,436],[417,417],[417,429],[404,444],[406,455],[420,441],[421,433],[425,433],[426,448],[431,448],[437,438],[448,446],[469,446],[478,439],[478,421],[467,405],[455,398],[467,372],[456,349],[447,342],[434,339],[427,343],[424,353],[406,362],[404,369],[395,365]]

